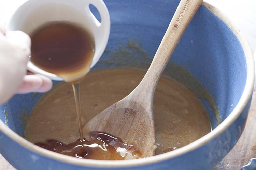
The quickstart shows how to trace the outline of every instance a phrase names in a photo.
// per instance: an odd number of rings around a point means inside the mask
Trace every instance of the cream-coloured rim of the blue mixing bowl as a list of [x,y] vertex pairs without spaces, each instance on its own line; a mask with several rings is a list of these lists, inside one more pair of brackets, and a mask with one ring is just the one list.
[[1,120],[0,120],[0,131],[2,131],[6,136],[11,138],[15,142],[17,142],[19,145],[27,148],[32,152],[43,155],[47,158],[51,158],[59,162],[64,162],[66,164],[71,164],[76,166],[85,166],[85,167],[89,166],[89,167],[96,167],[96,168],[100,168],[100,167],[102,168],[116,167],[117,168],[117,167],[133,167],[133,166],[149,165],[157,162],[162,162],[167,159],[180,156],[182,154],[186,154],[190,151],[193,151],[203,146],[205,143],[209,142],[210,140],[212,140],[213,138],[215,138],[216,136],[224,132],[228,128],[228,126],[230,126],[239,117],[239,115],[245,108],[253,91],[255,65],[254,65],[253,53],[248,41],[246,40],[245,36],[240,32],[240,30],[234,25],[232,20],[229,19],[227,16],[225,16],[225,14],[222,11],[220,11],[217,7],[213,6],[212,4],[203,2],[202,5],[207,7],[214,15],[216,15],[222,21],[224,21],[224,23],[226,23],[227,26],[231,29],[231,31],[237,36],[244,50],[246,64],[247,64],[246,84],[244,87],[243,94],[237,106],[233,109],[230,115],[210,133],[172,152],[167,152],[167,153],[163,153],[160,155],[155,155],[155,156],[151,156],[143,159],[110,161],[110,160],[77,159],[75,157],[70,157],[67,155],[62,155],[59,153],[48,151],[46,149],[43,149],[39,146],[34,145],[33,143],[19,136],[14,131],[12,131],[8,126],[6,126]]

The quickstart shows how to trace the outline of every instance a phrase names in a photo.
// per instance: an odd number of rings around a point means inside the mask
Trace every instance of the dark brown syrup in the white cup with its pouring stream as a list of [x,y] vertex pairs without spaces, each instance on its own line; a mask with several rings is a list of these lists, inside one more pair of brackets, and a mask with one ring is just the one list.
[[79,81],[90,70],[95,48],[93,36],[73,23],[55,21],[35,30],[31,41],[31,62],[72,84],[83,141]]

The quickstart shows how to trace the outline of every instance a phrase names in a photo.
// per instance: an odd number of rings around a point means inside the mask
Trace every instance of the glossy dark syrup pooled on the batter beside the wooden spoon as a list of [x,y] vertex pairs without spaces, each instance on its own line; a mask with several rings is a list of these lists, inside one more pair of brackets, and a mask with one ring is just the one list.
[[53,152],[85,159],[125,160],[143,157],[133,145],[104,132],[90,132],[89,139],[79,139],[70,144],[48,140],[36,145]]

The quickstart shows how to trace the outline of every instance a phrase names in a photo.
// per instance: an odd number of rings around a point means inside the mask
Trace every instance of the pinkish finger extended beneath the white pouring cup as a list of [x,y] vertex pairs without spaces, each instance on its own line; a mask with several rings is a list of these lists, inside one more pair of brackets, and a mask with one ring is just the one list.
[[17,93],[46,92],[51,88],[51,79],[39,74],[25,75],[23,78],[23,84],[18,89]]

